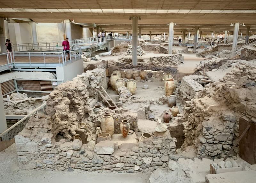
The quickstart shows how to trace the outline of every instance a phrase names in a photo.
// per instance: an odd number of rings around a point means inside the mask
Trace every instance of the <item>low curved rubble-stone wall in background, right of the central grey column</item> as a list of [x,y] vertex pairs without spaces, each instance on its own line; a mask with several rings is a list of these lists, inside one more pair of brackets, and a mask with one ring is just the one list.
[[150,63],[156,66],[177,66],[183,61],[184,57],[181,54],[150,58]]

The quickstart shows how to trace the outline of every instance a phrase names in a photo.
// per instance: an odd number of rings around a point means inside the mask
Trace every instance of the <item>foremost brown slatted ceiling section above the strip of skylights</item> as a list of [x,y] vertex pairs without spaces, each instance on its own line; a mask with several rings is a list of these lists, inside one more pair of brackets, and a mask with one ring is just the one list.
[[255,0],[0,0],[0,8],[255,9]]

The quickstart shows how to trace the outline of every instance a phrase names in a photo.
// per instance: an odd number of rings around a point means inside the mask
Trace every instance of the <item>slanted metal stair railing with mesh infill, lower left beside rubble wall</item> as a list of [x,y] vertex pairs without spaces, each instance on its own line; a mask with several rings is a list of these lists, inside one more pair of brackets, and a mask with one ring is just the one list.
[[5,130],[3,133],[0,134],[0,141],[8,141],[15,137],[15,135],[18,135],[20,131],[23,130],[23,128],[28,123],[28,119],[30,116],[35,115],[43,115],[44,110],[46,109],[46,103],[43,103],[41,106],[37,107],[35,110],[33,110],[31,113],[26,115],[24,118],[22,118],[20,121],[12,125],[10,128]]

